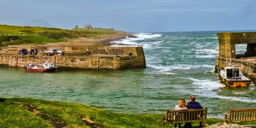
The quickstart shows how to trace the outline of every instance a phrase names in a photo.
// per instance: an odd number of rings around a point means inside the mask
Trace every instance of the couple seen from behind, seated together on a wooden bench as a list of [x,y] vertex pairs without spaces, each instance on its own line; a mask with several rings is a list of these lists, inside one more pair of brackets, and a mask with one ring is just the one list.
[[[190,96],[189,102],[187,103],[184,99],[180,99],[180,103],[177,104],[174,110],[183,110],[183,109],[203,109],[200,103],[195,101],[195,96]],[[203,127],[202,122],[199,122],[200,128]],[[177,127],[177,123],[174,124],[174,127]],[[191,128],[191,123],[185,123],[183,128]],[[181,128],[181,123],[179,123],[179,128]]]

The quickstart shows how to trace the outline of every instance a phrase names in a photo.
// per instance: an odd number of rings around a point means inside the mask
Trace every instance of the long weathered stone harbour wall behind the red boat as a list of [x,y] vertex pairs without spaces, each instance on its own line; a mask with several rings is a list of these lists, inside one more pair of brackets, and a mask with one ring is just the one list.
[[[80,51],[88,47],[78,47]],[[95,47],[91,47],[95,48]],[[101,48],[101,47],[98,47]],[[120,48],[120,47],[118,47]],[[61,48],[60,48],[61,49]],[[21,56],[21,55],[1,55],[0,66],[11,66],[15,68],[25,68],[26,64],[34,63],[41,66],[42,61],[51,61],[60,70],[123,70],[129,68],[146,68],[143,47],[124,47],[123,50],[131,56]],[[71,50],[74,51],[74,50]]]

